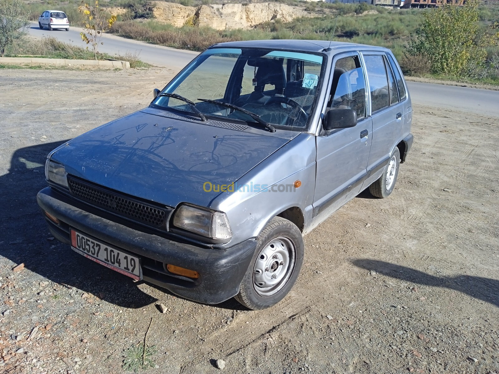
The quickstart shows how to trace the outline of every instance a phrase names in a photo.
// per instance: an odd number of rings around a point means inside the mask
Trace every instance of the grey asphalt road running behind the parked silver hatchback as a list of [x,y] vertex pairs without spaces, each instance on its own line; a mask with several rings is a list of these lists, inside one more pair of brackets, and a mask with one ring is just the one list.
[[[29,28],[29,34],[34,37],[53,36],[60,41],[84,47],[86,44],[81,40],[81,31],[78,27],[70,27],[69,31],[40,30],[37,22],[32,22]],[[104,34],[102,42],[104,44],[99,46],[102,52],[121,55],[127,52],[136,53],[145,62],[175,71],[183,68],[198,55],[198,52],[148,44],[110,34]],[[420,82],[407,84],[413,104],[499,117],[499,91]]]

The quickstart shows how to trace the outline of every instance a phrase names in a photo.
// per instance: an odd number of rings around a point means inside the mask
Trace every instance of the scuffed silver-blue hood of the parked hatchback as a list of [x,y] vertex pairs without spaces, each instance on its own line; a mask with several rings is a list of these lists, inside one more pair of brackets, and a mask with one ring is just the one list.
[[299,134],[265,135],[166,115],[150,108],[133,113],[65,143],[51,159],[68,174],[132,196],[168,206],[209,206],[220,192],[206,191],[205,182],[236,182]]

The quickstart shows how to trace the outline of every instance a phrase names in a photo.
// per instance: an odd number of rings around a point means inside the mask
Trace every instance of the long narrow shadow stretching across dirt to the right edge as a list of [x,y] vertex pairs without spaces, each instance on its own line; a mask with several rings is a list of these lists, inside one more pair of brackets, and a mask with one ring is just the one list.
[[357,259],[352,263],[360,268],[374,270],[392,278],[425,286],[449,288],[499,307],[499,280],[496,279],[472,275],[437,277],[409,267],[369,259]]

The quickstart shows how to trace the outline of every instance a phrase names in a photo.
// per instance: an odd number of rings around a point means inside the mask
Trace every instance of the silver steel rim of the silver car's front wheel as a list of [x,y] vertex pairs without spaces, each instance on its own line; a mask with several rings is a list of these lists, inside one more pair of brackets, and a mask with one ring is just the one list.
[[291,277],[296,249],[288,238],[279,236],[262,248],[253,267],[253,287],[260,296],[273,296]]

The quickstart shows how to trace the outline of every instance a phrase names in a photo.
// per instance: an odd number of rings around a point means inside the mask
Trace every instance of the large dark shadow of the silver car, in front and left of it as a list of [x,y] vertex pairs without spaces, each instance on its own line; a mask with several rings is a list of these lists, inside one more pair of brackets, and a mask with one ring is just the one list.
[[[14,265],[24,263],[25,269],[38,274],[22,280],[23,284],[46,278],[125,308],[138,309],[157,302],[158,299],[137,287],[147,282],[134,282],[131,278],[83,258],[68,245],[54,239],[48,231],[36,203],[36,194],[47,186],[44,165],[48,153],[64,142],[43,143],[16,150],[10,161],[9,172],[0,176],[0,211],[3,214],[0,222],[0,255]],[[182,299],[166,289],[147,284]],[[234,299],[216,306],[246,310]]]

